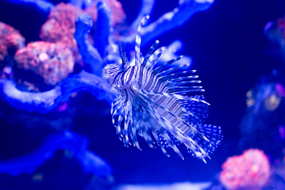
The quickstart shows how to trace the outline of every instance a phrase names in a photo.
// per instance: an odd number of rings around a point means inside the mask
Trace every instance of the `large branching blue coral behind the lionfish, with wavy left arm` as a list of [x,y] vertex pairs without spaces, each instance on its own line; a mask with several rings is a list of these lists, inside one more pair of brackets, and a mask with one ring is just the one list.
[[[18,1],[10,2],[17,3]],[[28,1],[21,2],[28,3]],[[139,20],[142,14],[152,11],[154,1],[144,0],[142,2],[142,5],[145,7],[141,8],[138,19],[135,19],[135,22]],[[194,13],[209,8],[212,3],[213,0],[180,0],[179,6],[173,11],[165,13],[157,21],[142,28],[142,39],[144,40],[141,45],[143,46],[148,41],[153,41],[157,36],[183,25]],[[111,23],[111,18],[108,16],[110,8],[104,1],[99,1],[97,8],[98,20],[96,25],[105,26],[97,28],[98,33],[104,34],[101,46],[97,48],[93,47],[87,40],[87,34],[93,25],[90,17],[87,15],[81,15],[78,18],[76,21],[76,32],[74,34],[84,64],[89,65],[91,68],[90,73],[82,71],[79,74],[71,75],[51,91],[43,93],[21,92],[16,89],[13,81],[1,79],[1,98],[18,109],[38,111],[40,113],[51,111],[55,107],[58,107],[61,101],[66,101],[72,93],[82,90],[90,91],[97,99],[105,99],[110,103],[115,95],[110,90],[108,83],[100,79],[103,67],[107,63],[115,62],[119,59],[119,43],[135,44],[135,33],[128,37],[120,36],[114,39],[111,32],[112,28],[109,24]],[[134,26],[136,25],[135,22],[129,27],[129,31],[137,27]],[[187,59],[187,61],[189,61],[189,59]]]

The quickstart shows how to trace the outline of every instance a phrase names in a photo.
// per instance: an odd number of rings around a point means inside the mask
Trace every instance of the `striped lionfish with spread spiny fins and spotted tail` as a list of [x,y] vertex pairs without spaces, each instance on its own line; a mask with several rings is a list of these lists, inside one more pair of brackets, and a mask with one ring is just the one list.
[[201,86],[192,85],[201,82],[193,80],[197,75],[190,75],[196,70],[181,71],[190,64],[168,67],[182,56],[157,64],[166,49],[160,47],[154,51],[157,40],[143,59],[141,28],[147,19],[149,16],[138,27],[135,66],[129,65],[125,46],[123,52],[120,46],[122,64],[116,62],[104,68],[104,78],[118,91],[111,108],[117,134],[125,146],[133,144],[141,150],[137,140],[141,136],[150,147],[157,144],[167,156],[166,148],[172,148],[182,159],[178,145],[184,144],[189,153],[206,163],[205,157],[221,142],[220,127],[203,125],[209,103],[202,95],[189,96],[204,91]]

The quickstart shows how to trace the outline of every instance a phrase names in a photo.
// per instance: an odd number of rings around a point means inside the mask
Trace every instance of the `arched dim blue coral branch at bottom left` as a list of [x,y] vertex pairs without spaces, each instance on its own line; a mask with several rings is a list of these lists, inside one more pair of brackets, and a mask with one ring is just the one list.
[[98,177],[112,174],[111,166],[100,157],[86,150],[89,140],[72,131],[63,131],[49,135],[42,145],[27,155],[0,161],[0,173],[17,176],[21,173],[33,173],[42,163],[52,158],[58,149],[65,149],[76,158],[85,173],[92,173]]

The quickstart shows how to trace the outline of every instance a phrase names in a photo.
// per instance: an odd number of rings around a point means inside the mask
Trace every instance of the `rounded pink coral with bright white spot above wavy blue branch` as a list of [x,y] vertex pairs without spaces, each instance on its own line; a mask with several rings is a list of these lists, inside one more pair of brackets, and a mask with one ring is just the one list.
[[15,53],[15,60],[19,68],[34,71],[51,85],[67,77],[74,67],[72,52],[60,42],[30,42]]

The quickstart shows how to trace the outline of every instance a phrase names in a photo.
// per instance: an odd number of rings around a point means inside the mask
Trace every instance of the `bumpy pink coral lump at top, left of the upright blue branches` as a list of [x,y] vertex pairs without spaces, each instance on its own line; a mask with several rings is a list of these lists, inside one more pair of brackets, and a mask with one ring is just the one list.
[[50,11],[48,20],[40,29],[40,38],[48,42],[62,42],[73,52],[75,61],[81,60],[76,40],[74,39],[76,18],[83,10],[70,3],[59,3]]

